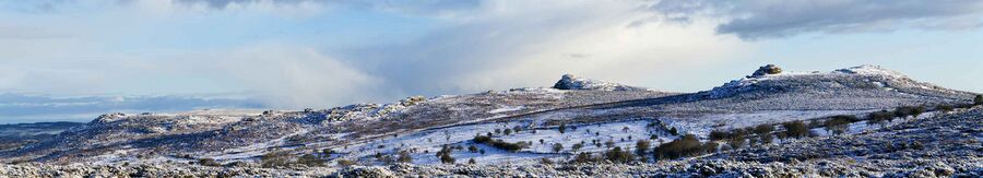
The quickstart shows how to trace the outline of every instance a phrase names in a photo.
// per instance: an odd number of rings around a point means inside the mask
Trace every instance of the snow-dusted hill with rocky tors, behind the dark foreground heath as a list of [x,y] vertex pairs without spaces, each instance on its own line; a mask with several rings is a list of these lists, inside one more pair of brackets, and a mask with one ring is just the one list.
[[[410,163],[435,165],[440,164],[436,154],[450,147],[457,163],[528,165],[635,147],[640,140],[653,146],[685,134],[707,140],[714,130],[837,115],[863,117],[899,106],[968,104],[974,96],[874,66],[832,72],[762,69],[768,70],[683,94],[564,75],[549,88],[410,97],[392,104],[299,111],[110,114],[0,152],[0,161],[111,165],[209,158],[232,164],[258,163],[263,155],[282,152],[315,155],[331,164],[382,165],[387,156],[402,153],[413,157]],[[477,143],[476,135],[522,149]]]

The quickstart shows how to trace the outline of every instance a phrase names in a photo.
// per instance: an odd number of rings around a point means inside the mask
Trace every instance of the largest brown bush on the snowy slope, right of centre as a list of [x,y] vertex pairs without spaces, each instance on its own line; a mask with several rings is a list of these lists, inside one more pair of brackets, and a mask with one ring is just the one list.
[[658,159],[675,159],[679,157],[696,156],[716,150],[715,143],[702,144],[692,134],[686,134],[680,139],[661,144],[653,151]]

